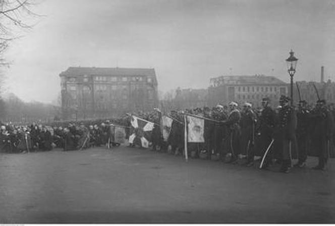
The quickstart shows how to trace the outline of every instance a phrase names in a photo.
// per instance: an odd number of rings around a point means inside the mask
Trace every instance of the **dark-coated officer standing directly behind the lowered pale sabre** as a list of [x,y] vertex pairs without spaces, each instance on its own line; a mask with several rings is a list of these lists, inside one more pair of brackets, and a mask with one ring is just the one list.
[[[266,148],[269,146],[272,140],[272,134],[274,129],[274,111],[269,106],[270,99],[265,97],[262,99],[262,111],[260,115],[260,142],[261,142],[261,153],[264,156]],[[272,154],[269,152],[264,160],[262,169],[267,169],[272,164]]]

